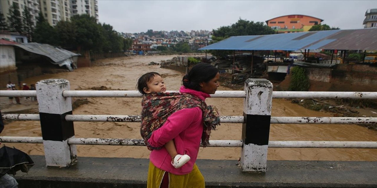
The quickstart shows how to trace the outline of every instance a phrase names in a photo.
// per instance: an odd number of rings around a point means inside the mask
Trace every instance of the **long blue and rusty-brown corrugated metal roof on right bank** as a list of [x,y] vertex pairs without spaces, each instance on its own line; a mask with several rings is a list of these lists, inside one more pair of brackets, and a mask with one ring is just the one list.
[[377,50],[377,29],[231,36],[199,50]]

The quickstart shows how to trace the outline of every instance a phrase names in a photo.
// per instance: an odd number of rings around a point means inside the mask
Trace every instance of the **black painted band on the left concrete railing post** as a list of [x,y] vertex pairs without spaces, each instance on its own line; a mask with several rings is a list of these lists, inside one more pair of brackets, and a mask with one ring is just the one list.
[[66,121],[66,115],[72,115],[72,111],[64,114],[39,112],[43,140],[64,141],[75,135],[73,121]]

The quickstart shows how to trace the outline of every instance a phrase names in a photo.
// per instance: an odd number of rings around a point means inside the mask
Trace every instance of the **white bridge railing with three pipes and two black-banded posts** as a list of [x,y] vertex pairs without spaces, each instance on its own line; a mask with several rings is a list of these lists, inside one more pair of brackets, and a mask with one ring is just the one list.
[[[74,121],[140,122],[139,115],[74,115],[71,97],[142,97],[137,91],[71,91],[69,81],[37,82],[36,91],[0,91],[0,97],[38,98],[39,114],[3,114],[5,120],[40,121],[42,137],[0,136],[4,143],[43,143],[46,164],[66,167],[77,161],[75,145],[145,146],[143,139],[75,138]],[[377,142],[269,141],[270,124],[375,124],[374,117],[271,117],[272,98],[377,99],[377,92],[272,91],[265,79],[248,79],[244,91],[216,91],[211,97],[244,98],[243,116],[221,116],[242,123],[242,140],[210,140],[209,147],[241,147],[243,171],[266,171],[268,147],[377,148]]]

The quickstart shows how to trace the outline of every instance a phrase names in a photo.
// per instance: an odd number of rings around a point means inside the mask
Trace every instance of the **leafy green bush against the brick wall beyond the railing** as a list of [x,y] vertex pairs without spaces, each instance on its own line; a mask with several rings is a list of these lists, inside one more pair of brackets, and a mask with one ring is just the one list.
[[309,90],[309,78],[305,73],[303,67],[293,67],[291,71],[291,83],[289,84],[289,91],[308,91]]

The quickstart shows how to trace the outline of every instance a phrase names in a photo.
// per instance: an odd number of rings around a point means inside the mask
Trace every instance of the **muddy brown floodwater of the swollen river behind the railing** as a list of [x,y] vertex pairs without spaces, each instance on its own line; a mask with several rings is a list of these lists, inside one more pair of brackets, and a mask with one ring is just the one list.
[[[104,59],[92,67],[79,68],[73,72],[45,74],[23,81],[35,83],[42,79],[67,79],[72,90],[86,90],[106,86],[112,89],[136,90],[136,79],[141,74],[156,71],[162,74],[168,90],[178,90],[183,74],[159,65],[147,65],[175,56],[132,56]],[[231,90],[221,86],[218,90]],[[2,97],[3,98],[3,97]],[[73,114],[139,115],[141,98],[88,98]],[[21,100],[22,103],[22,100]],[[241,116],[243,99],[214,98],[208,105],[219,108],[221,115]],[[3,112],[4,113],[4,112]],[[332,117],[326,112],[312,111],[285,99],[273,99],[272,116]],[[74,122],[76,138],[137,138],[140,139],[139,123]],[[211,139],[240,140],[242,124],[223,123],[212,132]],[[39,121],[10,121],[2,136],[41,136]],[[377,141],[377,132],[350,124],[271,124],[271,141]],[[44,155],[42,144],[4,143],[29,155]],[[199,159],[238,160],[240,148],[201,148]],[[142,146],[95,146],[77,145],[78,156],[148,158],[149,150]],[[377,149],[300,149],[270,148],[268,160],[331,160],[331,161],[377,161]]]

